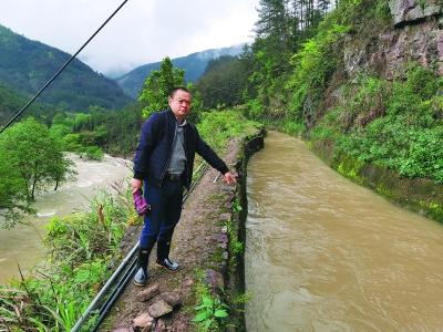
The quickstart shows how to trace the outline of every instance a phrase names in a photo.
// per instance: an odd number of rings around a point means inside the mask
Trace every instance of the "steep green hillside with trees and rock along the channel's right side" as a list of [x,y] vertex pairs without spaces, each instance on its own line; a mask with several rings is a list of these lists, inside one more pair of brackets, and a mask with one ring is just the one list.
[[[443,3],[259,3],[250,50],[197,82],[206,105],[235,101],[343,175],[443,220]],[[224,93],[233,84],[241,97]]]

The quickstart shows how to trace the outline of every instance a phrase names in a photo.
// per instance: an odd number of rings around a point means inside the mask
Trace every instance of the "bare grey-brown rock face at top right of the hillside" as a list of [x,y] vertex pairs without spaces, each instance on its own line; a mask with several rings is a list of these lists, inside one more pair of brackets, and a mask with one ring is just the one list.
[[378,73],[385,79],[404,76],[409,62],[435,65],[443,75],[442,0],[391,0],[395,28],[367,39],[344,43],[344,70],[349,77]]

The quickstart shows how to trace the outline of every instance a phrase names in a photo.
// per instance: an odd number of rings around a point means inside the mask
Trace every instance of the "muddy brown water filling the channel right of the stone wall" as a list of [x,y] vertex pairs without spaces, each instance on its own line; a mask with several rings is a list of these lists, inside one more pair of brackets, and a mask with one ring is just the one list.
[[275,132],[247,191],[247,331],[443,331],[443,225]]

